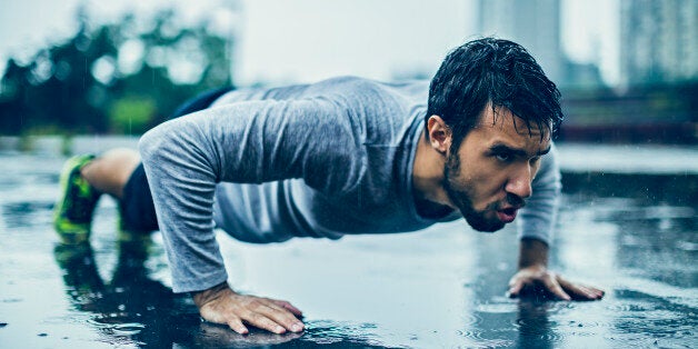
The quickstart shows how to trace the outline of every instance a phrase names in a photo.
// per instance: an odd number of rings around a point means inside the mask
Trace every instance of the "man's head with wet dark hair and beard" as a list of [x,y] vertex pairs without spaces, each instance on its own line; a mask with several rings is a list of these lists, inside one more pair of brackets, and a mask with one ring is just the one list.
[[481,231],[516,218],[562,120],[560,93],[519,44],[468,42],[431,81],[426,139],[445,161],[450,206]]

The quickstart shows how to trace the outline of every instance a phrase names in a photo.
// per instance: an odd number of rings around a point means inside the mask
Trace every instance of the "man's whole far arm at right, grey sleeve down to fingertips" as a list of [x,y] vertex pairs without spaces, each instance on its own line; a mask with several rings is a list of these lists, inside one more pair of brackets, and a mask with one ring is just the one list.
[[534,196],[519,221],[518,272],[509,281],[507,293],[509,297],[519,297],[541,290],[564,300],[600,299],[604,291],[570,282],[548,270],[549,243],[561,188],[555,148],[544,159],[532,186]]

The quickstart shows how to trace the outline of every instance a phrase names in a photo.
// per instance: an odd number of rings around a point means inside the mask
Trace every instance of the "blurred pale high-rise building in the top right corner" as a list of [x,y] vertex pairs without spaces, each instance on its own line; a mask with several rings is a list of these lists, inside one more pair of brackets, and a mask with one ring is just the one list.
[[622,0],[624,86],[698,79],[698,1]]

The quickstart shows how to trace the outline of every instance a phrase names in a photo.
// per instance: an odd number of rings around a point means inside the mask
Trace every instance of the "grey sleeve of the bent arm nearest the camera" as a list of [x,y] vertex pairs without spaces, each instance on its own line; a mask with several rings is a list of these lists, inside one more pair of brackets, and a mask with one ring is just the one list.
[[357,182],[360,140],[340,110],[327,100],[241,102],[170,120],[141,138],[176,292],[228,278],[213,232],[217,182],[303,178],[330,193]]

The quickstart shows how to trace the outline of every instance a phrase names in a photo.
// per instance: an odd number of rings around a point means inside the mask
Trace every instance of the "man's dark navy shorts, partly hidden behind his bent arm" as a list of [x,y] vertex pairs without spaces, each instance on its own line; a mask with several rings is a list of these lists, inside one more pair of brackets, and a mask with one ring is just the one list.
[[[232,87],[216,89],[203,92],[179,107],[170,119],[192,113],[206,109],[213,103],[219,97],[233,90]],[[123,187],[123,198],[120,202],[121,222],[123,228],[133,231],[152,231],[158,230],[158,217],[156,208],[152,205],[152,195],[143,164],[139,163],[136,170],[129,177]]]

